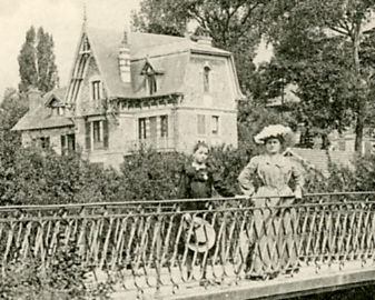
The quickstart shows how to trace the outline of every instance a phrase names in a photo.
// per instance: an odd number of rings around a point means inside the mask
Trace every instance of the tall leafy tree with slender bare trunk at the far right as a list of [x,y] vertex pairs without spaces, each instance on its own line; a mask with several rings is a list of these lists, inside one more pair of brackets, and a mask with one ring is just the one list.
[[[293,3],[290,6],[290,3]],[[288,7],[282,7],[278,13],[279,19],[277,26],[270,27],[269,36],[273,37],[273,42],[276,48],[282,48],[284,52],[289,50],[285,47],[290,47],[289,53],[299,48],[298,52],[294,52],[294,60],[298,61],[305,59],[304,52],[312,52],[310,48],[304,47],[304,43],[292,43],[290,41],[300,34],[305,34],[305,39],[300,38],[300,41],[308,42],[312,38],[316,39],[316,44],[320,41],[324,43],[337,42],[337,38],[341,38],[337,47],[342,49],[342,56],[336,56],[342,63],[335,66],[334,77],[337,79],[345,73],[348,86],[344,91],[348,91],[351,99],[342,92],[347,99],[346,107],[334,106],[336,110],[345,110],[351,108],[354,116],[355,127],[355,150],[361,151],[363,132],[366,121],[367,106],[368,106],[368,90],[369,78],[372,77],[373,69],[367,68],[361,62],[361,48],[364,39],[364,28],[371,22],[375,9],[374,0],[302,0],[289,1]],[[276,39],[275,39],[276,37]],[[319,41],[320,40],[320,41]],[[306,46],[306,44],[305,44]],[[303,48],[303,49],[302,49]],[[316,48],[313,48],[316,50]],[[302,51],[300,51],[302,50]],[[333,53],[337,54],[336,49],[332,49]],[[345,51],[344,51],[345,50]],[[320,50],[319,50],[320,51]],[[320,53],[322,56],[329,56],[327,53]],[[313,53],[314,57],[319,57],[319,53]],[[292,58],[292,56],[289,56]],[[333,60],[330,60],[334,63]],[[314,62],[310,62],[314,64]],[[333,66],[330,63],[330,66]],[[322,64],[325,67],[325,64]],[[338,71],[339,70],[339,71]],[[319,72],[319,69],[316,70]],[[327,76],[328,73],[325,73]],[[324,79],[320,77],[320,79]],[[330,77],[327,78],[328,81]],[[344,80],[344,78],[342,78]],[[322,80],[320,80],[322,82]],[[327,82],[328,83],[328,82]],[[330,84],[332,83],[332,84]],[[343,86],[339,80],[328,83],[329,89],[333,92],[339,93],[339,89]],[[322,82],[324,84],[324,82]],[[306,87],[305,87],[306,88]],[[330,98],[329,98],[330,99]],[[318,107],[317,108],[325,108]]]

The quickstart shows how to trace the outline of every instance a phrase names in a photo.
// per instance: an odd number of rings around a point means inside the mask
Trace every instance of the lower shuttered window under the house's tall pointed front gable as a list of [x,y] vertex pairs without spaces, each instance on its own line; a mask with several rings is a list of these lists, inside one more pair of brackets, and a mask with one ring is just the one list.
[[108,148],[108,120],[86,121],[86,150]]

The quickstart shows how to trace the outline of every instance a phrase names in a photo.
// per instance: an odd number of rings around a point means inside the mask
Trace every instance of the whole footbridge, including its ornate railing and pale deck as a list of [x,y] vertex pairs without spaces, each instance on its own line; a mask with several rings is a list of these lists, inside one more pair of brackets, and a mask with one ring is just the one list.
[[[206,200],[204,213],[181,210]],[[206,200],[0,207],[0,259],[48,269],[70,249],[91,274],[88,287],[111,280],[115,299],[283,299],[375,283],[374,192],[307,194],[276,208]],[[249,249],[264,236],[282,237],[268,241],[267,256],[290,259],[264,267],[277,278],[249,280]]]

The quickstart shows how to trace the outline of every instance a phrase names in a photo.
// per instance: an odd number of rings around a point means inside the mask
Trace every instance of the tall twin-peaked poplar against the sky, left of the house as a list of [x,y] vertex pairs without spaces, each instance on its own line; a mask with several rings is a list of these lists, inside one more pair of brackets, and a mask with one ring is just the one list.
[[55,63],[53,39],[42,28],[38,33],[33,27],[26,34],[26,42],[18,57],[21,82],[19,90],[28,90],[30,86],[42,92],[52,90],[58,82],[57,66]]

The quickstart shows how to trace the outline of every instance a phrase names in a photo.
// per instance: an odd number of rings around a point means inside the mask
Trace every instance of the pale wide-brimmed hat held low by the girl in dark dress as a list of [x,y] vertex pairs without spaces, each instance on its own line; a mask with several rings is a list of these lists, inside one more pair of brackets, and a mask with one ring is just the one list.
[[191,223],[188,224],[187,233],[190,233],[187,237],[187,247],[193,251],[206,252],[215,244],[215,230],[203,218],[194,217]]

